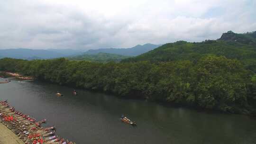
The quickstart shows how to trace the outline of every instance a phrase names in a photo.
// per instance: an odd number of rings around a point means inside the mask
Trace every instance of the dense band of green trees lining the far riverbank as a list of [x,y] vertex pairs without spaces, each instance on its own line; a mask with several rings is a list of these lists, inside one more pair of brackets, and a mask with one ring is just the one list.
[[0,70],[32,75],[40,80],[122,97],[250,113],[256,102],[255,75],[238,60],[204,56],[196,63],[95,63],[0,59]]

